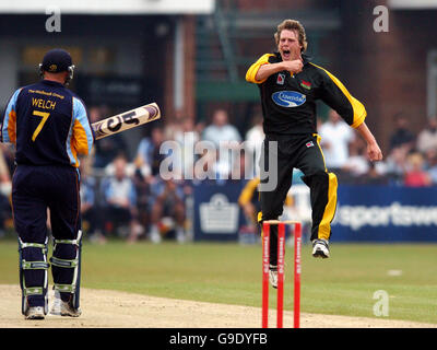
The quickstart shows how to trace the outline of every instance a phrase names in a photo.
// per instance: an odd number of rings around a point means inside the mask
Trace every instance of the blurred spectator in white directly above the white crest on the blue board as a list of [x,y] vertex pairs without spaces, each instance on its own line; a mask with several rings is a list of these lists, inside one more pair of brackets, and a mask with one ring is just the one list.
[[239,148],[241,136],[237,128],[229,124],[226,110],[217,109],[214,112],[212,124],[203,130],[202,140],[213,142],[218,151],[216,173],[220,178],[228,178],[232,171],[232,150],[236,147]]

